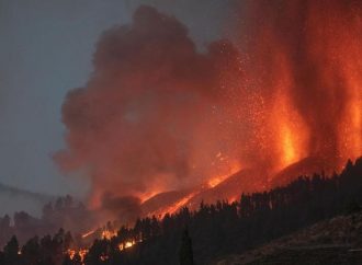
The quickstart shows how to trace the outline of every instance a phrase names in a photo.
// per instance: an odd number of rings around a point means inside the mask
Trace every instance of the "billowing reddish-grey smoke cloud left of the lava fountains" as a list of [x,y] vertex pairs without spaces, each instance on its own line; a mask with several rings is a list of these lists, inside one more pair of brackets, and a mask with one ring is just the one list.
[[179,21],[140,7],[129,25],[102,35],[89,82],[68,94],[68,149],[56,161],[92,177],[95,204],[104,193],[145,198],[228,170],[220,69],[235,68],[235,55],[227,42],[199,53]]

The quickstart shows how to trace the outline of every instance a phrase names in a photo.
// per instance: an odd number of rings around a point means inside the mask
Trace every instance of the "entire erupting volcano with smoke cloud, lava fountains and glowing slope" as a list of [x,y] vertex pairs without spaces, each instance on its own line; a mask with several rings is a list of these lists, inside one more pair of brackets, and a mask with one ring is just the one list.
[[149,7],[101,36],[55,155],[90,177],[90,207],[162,216],[362,154],[361,1],[241,4],[206,49]]

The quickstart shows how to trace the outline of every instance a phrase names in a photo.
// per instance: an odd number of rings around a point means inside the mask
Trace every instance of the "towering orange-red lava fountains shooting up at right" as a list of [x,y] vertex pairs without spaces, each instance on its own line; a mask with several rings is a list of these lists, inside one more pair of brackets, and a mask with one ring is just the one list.
[[278,172],[319,157],[339,169],[361,155],[361,3],[258,0],[247,7],[244,89],[257,94],[250,120],[264,164]]

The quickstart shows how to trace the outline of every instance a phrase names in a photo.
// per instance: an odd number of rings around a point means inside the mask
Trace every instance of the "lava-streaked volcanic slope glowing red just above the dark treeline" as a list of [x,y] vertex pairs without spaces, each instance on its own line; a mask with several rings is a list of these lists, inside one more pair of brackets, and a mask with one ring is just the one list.
[[315,173],[330,174],[330,164],[318,157],[308,157],[295,162],[276,174],[268,174],[263,169],[246,169],[226,177],[214,187],[202,185],[190,189],[159,193],[143,203],[145,216],[162,217],[173,214],[182,207],[196,210],[202,203],[214,204],[217,200],[239,200],[242,193],[250,194],[287,185],[299,176]]

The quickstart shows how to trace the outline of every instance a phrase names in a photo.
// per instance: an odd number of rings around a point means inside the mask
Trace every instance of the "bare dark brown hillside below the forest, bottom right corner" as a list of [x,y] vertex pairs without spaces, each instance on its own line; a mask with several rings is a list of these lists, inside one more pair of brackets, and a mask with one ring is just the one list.
[[362,212],[320,221],[215,265],[362,264]]

